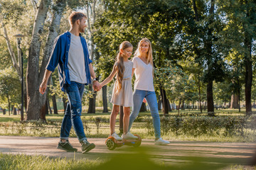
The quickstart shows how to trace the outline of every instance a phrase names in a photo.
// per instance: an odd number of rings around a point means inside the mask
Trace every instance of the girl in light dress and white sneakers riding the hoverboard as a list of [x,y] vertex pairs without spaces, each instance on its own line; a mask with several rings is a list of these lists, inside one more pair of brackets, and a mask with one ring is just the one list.
[[[129,125],[129,113],[130,107],[132,107],[132,67],[133,63],[129,61],[129,57],[132,55],[132,44],[128,41],[122,42],[119,46],[119,53],[117,55],[117,62],[114,63],[112,72],[107,79],[102,81],[101,86],[108,84],[117,74],[117,80],[114,82],[114,89],[112,93],[111,103],[113,103],[112,113],[110,115],[110,135],[116,140],[133,140],[137,139],[137,136],[128,132]],[[122,138],[114,132],[114,125],[116,122],[117,114],[119,113],[119,106],[123,106],[124,109],[124,133]]]

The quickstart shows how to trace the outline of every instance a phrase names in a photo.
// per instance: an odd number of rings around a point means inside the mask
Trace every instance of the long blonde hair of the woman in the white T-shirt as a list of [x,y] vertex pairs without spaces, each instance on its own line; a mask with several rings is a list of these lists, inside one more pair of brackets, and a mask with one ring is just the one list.
[[137,50],[134,52],[134,57],[139,57],[141,55],[141,52],[140,52],[140,48],[142,46],[142,42],[147,42],[149,43],[149,51],[146,52],[146,64],[151,64],[152,68],[153,68],[153,71],[152,71],[152,75],[154,77],[154,65],[153,65],[153,55],[152,55],[152,45],[151,45],[151,42],[149,39],[147,38],[143,38],[142,40],[139,41],[139,45],[137,47]]

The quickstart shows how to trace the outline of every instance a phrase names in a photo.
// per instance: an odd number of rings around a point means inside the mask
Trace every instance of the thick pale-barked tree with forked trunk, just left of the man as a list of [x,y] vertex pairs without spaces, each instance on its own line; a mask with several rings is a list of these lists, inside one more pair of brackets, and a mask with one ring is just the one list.
[[[27,120],[46,120],[46,95],[47,92],[41,95],[38,91],[39,84],[43,80],[43,74],[45,72],[46,64],[50,57],[50,52],[53,47],[53,40],[58,35],[58,29],[60,27],[60,19],[63,16],[63,11],[66,6],[65,0],[58,0],[53,5],[53,16],[48,32],[48,38],[46,41],[46,47],[44,50],[43,60],[39,71],[39,58],[41,50],[40,35],[43,33],[43,26],[48,13],[50,1],[42,0],[38,7],[36,15],[36,21],[33,26],[33,33],[31,39],[31,45],[28,55],[28,69],[27,69],[27,89],[28,89],[28,111]],[[36,74],[38,73],[38,74]],[[39,102],[38,102],[39,100]]]

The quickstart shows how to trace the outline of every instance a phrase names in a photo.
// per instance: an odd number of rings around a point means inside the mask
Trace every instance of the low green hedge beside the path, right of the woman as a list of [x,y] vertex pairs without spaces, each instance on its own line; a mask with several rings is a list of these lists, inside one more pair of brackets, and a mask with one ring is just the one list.
[[[154,135],[154,127],[151,117],[145,117],[145,128],[149,135]],[[188,135],[197,137],[200,135],[224,135],[245,136],[245,128],[256,129],[256,116],[168,116],[161,117],[161,134]]]

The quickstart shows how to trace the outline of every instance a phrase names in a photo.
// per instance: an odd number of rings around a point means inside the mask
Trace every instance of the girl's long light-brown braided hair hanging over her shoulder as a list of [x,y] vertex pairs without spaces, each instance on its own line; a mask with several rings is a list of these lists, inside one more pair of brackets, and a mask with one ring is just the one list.
[[124,50],[127,47],[132,47],[132,44],[129,41],[122,42],[119,45],[119,52],[117,54],[117,93],[122,89],[122,79],[124,78],[124,58],[122,57],[121,49]]

